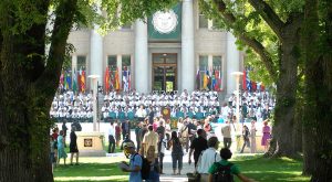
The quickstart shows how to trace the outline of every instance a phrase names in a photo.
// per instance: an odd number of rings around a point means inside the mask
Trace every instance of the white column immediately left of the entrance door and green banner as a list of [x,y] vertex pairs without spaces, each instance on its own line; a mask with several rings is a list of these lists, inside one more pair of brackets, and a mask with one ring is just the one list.
[[135,88],[138,93],[148,90],[147,24],[142,20],[135,23]]

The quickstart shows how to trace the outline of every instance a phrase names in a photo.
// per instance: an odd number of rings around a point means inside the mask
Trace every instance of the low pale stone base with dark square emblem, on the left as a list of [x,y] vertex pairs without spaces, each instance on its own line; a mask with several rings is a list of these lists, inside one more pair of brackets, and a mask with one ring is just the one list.
[[76,131],[80,157],[105,157],[104,133]]

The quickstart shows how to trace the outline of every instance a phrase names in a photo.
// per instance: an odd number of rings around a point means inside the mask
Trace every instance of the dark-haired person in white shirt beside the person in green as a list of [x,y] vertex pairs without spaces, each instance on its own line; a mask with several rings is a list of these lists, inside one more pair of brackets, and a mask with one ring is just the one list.
[[209,168],[221,160],[220,154],[217,152],[219,147],[219,141],[217,137],[211,137],[208,139],[208,149],[201,152],[198,159],[197,172],[200,174],[201,182],[208,182]]

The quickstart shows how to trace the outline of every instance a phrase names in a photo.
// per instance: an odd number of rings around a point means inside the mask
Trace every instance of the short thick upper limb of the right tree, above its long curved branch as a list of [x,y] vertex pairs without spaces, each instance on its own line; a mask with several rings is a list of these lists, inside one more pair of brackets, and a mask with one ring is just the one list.
[[259,12],[262,19],[269,24],[279,39],[282,38],[284,23],[273,9],[263,0],[249,0],[249,3]]

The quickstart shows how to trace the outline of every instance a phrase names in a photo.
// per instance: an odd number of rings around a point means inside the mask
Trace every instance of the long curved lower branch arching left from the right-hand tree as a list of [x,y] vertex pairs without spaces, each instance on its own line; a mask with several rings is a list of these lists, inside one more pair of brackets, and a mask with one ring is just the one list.
[[241,30],[236,30],[234,24],[236,23],[236,17],[226,10],[226,3],[222,0],[214,0],[215,4],[217,6],[219,13],[221,17],[229,23],[231,29],[235,31],[237,39],[246,43],[250,46],[261,58],[262,63],[264,64],[266,68],[268,69],[270,76],[276,82],[277,81],[277,71],[273,66],[273,61],[270,53],[266,50],[266,47],[256,39],[250,38],[246,30],[242,28]]

